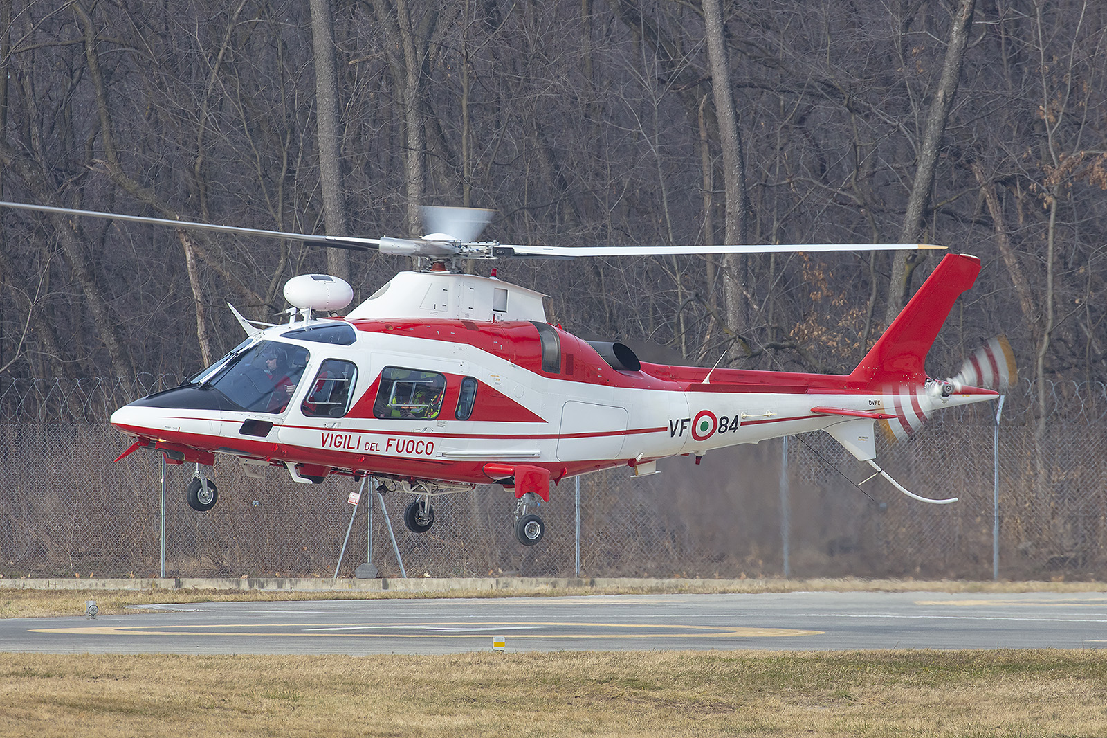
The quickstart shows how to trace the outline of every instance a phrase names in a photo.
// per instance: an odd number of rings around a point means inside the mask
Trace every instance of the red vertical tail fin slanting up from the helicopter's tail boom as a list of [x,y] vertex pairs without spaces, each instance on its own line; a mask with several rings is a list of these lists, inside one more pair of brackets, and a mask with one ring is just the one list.
[[919,381],[923,362],[961,293],[973,286],[980,259],[949,254],[865,355],[849,378],[869,385]]

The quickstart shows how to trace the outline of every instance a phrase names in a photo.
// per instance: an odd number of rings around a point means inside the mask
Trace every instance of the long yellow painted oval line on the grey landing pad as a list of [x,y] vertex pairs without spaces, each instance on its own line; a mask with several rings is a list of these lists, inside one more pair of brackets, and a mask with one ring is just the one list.
[[[87,625],[69,628],[37,628],[31,633],[53,633],[64,635],[130,635],[130,636],[284,636],[284,637],[330,637],[330,638],[487,638],[487,633],[339,633],[334,628],[489,628],[489,627],[560,627],[560,628],[619,628],[625,631],[651,629],[652,633],[516,633],[518,638],[666,638],[674,636],[699,636],[708,638],[782,638],[795,636],[824,635],[823,631],[797,631],[794,628],[732,627],[718,625],[655,625],[627,623],[297,623],[291,627],[313,628],[302,632],[267,632],[268,625],[254,624],[207,624],[207,625]],[[289,627],[275,626],[275,627]],[[238,629],[232,629],[238,628]]]

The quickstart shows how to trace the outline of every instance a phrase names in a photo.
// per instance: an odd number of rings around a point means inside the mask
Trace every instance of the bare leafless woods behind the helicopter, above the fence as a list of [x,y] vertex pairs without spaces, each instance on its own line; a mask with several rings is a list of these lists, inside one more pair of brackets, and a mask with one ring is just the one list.
[[[1057,388],[1107,381],[1105,21],[1078,0],[0,0],[0,194],[370,237],[421,235],[441,204],[495,208],[503,243],[945,245],[984,264],[928,370],[1010,337],[1044,493]],[[934,264],[498,268],[651,358],[848,372]],[[226,301],[271,320],[296,274],[364,298],[406,266],[0,211],[0,394],[111,377],[136,397],[239,342]]]

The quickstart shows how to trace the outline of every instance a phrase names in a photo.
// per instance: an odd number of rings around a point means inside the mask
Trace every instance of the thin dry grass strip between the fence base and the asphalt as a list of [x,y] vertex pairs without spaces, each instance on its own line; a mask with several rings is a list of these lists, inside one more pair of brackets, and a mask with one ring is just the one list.
[[913,580],[663,580],[589,587],[448,590],[442,592],[275,592],[271,590],[18,590],[0,588],[0,617],[56,617],[84,613],[95,599],[103,615],[143,605],[198,602],[370,599],[412,597],[524,597],[600,594],[763,592],[1104,592],[1101,582],[917,582]]

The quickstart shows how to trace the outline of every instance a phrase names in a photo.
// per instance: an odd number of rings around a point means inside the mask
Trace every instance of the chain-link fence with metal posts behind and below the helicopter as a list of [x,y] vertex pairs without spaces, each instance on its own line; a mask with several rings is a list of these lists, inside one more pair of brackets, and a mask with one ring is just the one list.
[[[247,476],[220,458],[219,504],[193,511],[190,465],[159,454],[113,459],[127,441],[106,422],[128,397],[173,381],[141,377],[0,386],[0,573],[6,576],[331,576],[368,558],[383,576],[793,576],[1098,578],[1107,565],[1107,388],[1024,385],[999,424],[995,403],[949,410],[908,443],[878,442],[882,467],[930,505],[873,479],[829,435],[713,451],[565,480],[541,514],[542,542],[520,545],[515,499],[496,485],[435,498],[436,522],[403,524],[413,499],[390,494],[395,549],[376,495],[348,503],[351,478]],[[1046,412],[1041,408],[1045,407]],[[999,465],[994,463],[999,460]],[[997,470],[997,471],[996,471]],[[996,474],[999,486],[996,488]],[[999,490],[997,520],[995,490]],[[580,519],[579,541],[577,515]],[[163,554],[164,521],[164,554]],[[782,521],[785,521],[782,523]],[[578,567],[579,545],[579,567]]]

